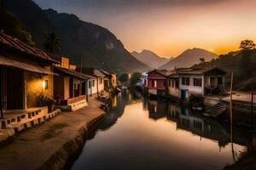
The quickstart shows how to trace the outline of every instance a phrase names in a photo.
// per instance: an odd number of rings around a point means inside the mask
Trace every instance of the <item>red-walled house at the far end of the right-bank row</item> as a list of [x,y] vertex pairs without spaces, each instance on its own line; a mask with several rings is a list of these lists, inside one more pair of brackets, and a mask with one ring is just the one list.
[[156,70],[148,72],[148,94],[149,95],[166,95],[167,78],[173,71]]

